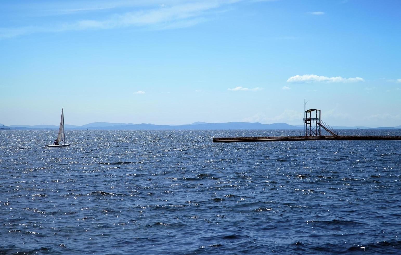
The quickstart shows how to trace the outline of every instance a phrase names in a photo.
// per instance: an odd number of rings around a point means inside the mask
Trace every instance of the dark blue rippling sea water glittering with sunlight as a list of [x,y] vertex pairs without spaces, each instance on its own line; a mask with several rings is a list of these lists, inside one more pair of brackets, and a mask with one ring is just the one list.
[[401,141],[67,130],[45,148],[56,133],[0,132],[1,254],[401,253]]

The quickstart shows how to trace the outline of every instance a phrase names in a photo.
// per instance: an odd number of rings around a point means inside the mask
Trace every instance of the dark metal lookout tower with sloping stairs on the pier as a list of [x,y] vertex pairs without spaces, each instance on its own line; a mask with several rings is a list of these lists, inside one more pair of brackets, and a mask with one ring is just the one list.
[[305,111],[305,136],[321,136],[322,132],[320,127],[332,134],[338,136],[338,132],[334,128],[330,127],[320,119],[319,109],[309,109]]

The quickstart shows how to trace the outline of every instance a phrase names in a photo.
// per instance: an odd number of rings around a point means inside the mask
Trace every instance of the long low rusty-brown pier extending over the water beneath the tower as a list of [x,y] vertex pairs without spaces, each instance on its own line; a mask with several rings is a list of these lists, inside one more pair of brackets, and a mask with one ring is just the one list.
[[261,136],[261,137],[215,137],[215,143],[276,142],[310,140],[401,140],[401,136]]

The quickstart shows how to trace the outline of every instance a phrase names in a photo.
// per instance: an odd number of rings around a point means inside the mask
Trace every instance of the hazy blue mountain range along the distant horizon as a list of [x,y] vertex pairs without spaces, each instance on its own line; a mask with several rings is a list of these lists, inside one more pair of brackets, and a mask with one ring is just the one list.
[[[10,125],[0,127],[29,130],[29,129],[58,129],[58,125]],[[332,126],[334,129],[401,129],[401,125],[397,127],[341,127]],[[304,125],[289,125],[287,123],[262,124],[259,122],[225,122],[225,123],[207,123],[197,121],[192,124],[185,125],[155,125],[150,123],[133,124],[133,123],[109,123],[109,122],[93,122],[86,125],[65,125],[65,129],[91,129],[91,130],[227,130],[227,129],[247,129],[247,130],[302,130]]]

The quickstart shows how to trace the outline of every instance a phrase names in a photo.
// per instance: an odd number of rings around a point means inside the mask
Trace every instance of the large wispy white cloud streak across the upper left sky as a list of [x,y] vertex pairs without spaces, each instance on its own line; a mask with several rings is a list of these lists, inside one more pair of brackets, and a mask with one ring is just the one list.
[[[43,32],[63,32],[71,30],[113,29],[124,27],[138,27],[148,29],[173,29],[194,26],[210,19],[210,14],[219,8],[228,8],[238,2],[252,2],[252,0],[149,0],[149,1],[103,1],[91,7],[88,1],[82,1],[82,7],[67,8],[66,3],[58,10],[61,14],[75,12],[100,12],[98,18],[80,19],[70,22],[49,22],[37,26],[19,26],[0,28],[0,39],[11,38],[26,34]],[[79,3],[79,2],[78,2]],[[131,7],[130,12],[121,12],[121,7]],[[54,9],[54,4],[53,4]],[[108,10],[103,12],[103,10]],[[124,8],[126,10],[127,8]],[[115,11],[115,13],[110,13]],[[120,12],[118,12],[120,11]]]

